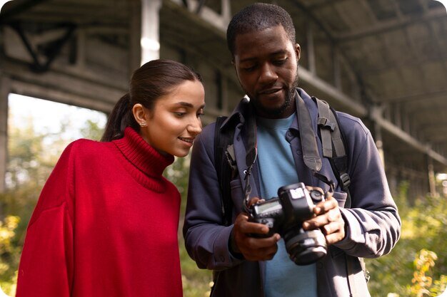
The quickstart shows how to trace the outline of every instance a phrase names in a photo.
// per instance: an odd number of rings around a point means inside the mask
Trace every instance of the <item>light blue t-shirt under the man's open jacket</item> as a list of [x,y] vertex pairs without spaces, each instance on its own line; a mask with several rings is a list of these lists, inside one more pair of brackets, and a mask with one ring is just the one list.
[[[278,188],[298,182],[286,132],[295,114],[285,119],[256,118],[258,168],[263,199],[278,194]],[[288,258],[284,240],[278,241],[278,251],[266,261],[264,290],[266,297],[317,297],[316,266],[298,266]]]

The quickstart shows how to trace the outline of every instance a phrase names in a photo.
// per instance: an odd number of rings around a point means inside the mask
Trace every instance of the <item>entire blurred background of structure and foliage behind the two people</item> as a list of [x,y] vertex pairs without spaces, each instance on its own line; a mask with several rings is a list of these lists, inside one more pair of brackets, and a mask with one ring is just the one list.
[[[0,11],[0,288],[14,296],[26,224],[61,151],[99,140],[132,71],[170,58],[201,73],[204,124],[242,98],[226,26],[248,0],[14,0]],[[368,260],[373,296],[438,296],[447,284],[447,14],[435,0],[278,0],[296,26],[300,83],[371,130],[403,219]],[[186,200],[189,159],[165,175]],[[181,216],[184,208],[181,209]],[[181,229],[181,226],[180,226]],[[184,296],[211,273],[181,241]]]

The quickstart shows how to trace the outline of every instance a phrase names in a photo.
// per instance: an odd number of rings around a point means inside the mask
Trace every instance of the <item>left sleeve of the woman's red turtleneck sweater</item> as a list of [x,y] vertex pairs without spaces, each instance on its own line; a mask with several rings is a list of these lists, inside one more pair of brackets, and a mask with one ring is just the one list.
[[73,224],[67,203],[71,145],[47,180],[26,231],[16,297],[69,297],[73,278]]

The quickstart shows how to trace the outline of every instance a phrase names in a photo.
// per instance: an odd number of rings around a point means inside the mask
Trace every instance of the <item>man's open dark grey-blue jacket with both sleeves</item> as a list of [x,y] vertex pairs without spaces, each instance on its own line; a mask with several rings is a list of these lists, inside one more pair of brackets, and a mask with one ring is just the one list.
[[[318,110],[316,103],[303,90],[297,89],[311,114],[313,130],[317,131]],[[233,221],[241,212],[243,202],[243,171],[246,170],[246,147],[244,145],[248,100],[243,99],[222,125],[236,120],[234,149],[239,176],[231,181]],[[341,207],[346,223],[346,237],[328,248],[327,256],[316,263],[318,296],[370,296],[358,257],[376,258],[388,254],[398,241],[401,220],[396,204],[388,189],[386,176],[376,145],[369,130],[361,120],[346,113],[337,113],[346,137],[348,148],[348,174],[351,177],[351,208],[343,208],[346,193],[336,184],[333,193]],[[303,163],[298,120],[295,119],[287,132],[298,179],[306,185],[328,189],[328,186],[313,177]],[[316,137],[318,137],[316,133]],[[331,165],[322,157],[321,141],[318,150],[323,160],[320,171],[336,181]],[[256,165],[256,163],[255,163]],[[256,174],[251,174],[251,197],[259,197]],[[254,186],[256,185],[256,187]],[[233,225],[224,226],[221,215],[221,191],[214,166],[214,124],[204,127],[194,142],[189,176],[188,203],[184,222],[186,249],[197,266],[214,271],[215,283],[211,296],[263,296],[265,262],[236,259],[228,250],[228,238]],[[347,277],[346,266],[350,265],[353,276]],[[290,276],[293,278],[300,276]],[[352,284],[353,283],[353,284]]]

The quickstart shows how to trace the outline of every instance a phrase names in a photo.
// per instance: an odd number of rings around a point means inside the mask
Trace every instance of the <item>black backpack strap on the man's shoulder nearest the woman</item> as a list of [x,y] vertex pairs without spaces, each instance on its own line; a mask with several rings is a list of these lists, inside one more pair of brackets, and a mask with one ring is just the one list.
[[225,116],[216,118],[216,126],[214,127],[214,167],[216,168],[217,179],[221,189],[221,212],[224,218],[224,225],[229,226],[231,225],[233,212],[229,185],[231,179],[236,177],[237,167],[233,148],[234,130],[231,128],[221,130],[221,125],[225,120]]

